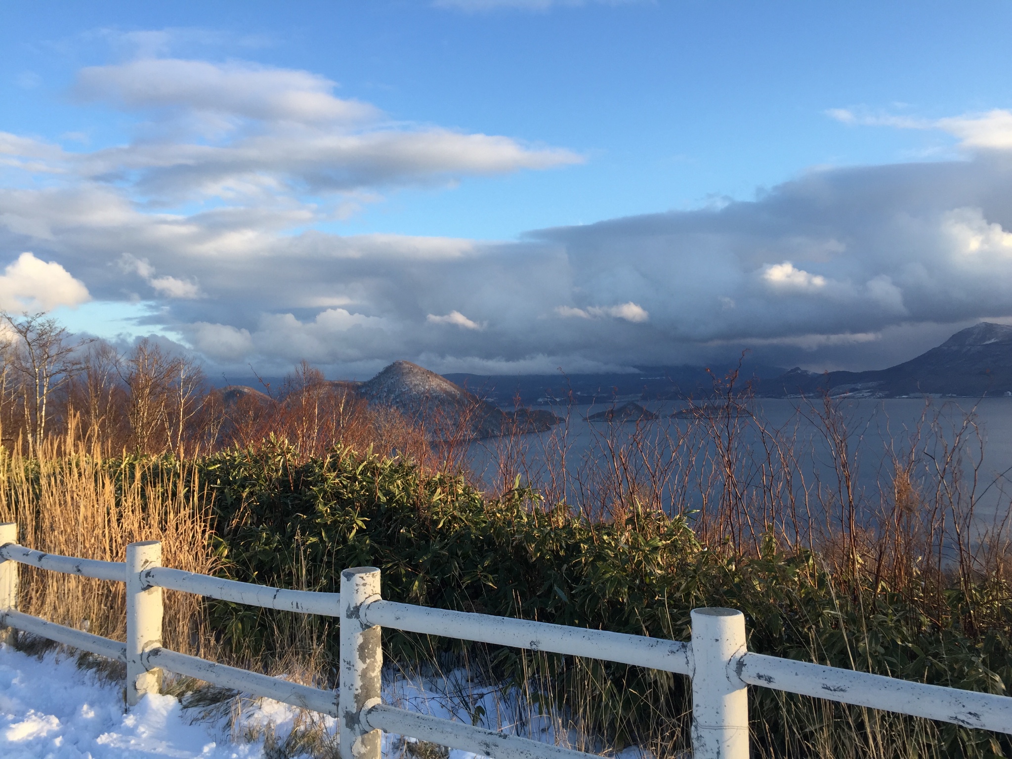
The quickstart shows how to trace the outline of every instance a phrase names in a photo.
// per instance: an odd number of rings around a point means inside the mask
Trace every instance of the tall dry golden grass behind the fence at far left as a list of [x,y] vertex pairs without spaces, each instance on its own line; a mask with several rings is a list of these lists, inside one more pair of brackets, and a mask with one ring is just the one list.
[[[97,448],[51,440],[27,460],[0,452],[0,521],[18,541],[63,556],[122,562],[128,543],[161,540],[166,567],[210,574],[210,521],[195,470],[128,458],[109,467]],[[122,583],[22,567],[18,608],[60,624],[125,640]],[[184,653],[200,641],[200,599],[166,591],[165,644]]]

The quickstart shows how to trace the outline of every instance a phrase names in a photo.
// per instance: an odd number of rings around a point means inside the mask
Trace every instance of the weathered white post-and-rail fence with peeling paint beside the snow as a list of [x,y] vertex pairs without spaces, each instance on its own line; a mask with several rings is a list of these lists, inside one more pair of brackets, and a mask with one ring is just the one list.
[[[126,643],[48,622],[17,610],[17,565],[126,584]],[[337,693],[186,656],[162,647],[162,588],[265,608],[340,619]],[[383,703],[381,630],[393,627],[531,651],[589,657],[692,678],[696,759],[749,755],[747,686],[1012,734],[1012,697],[908,682],[749,652],[740,611],[692,611],[692,641],[607,632],[385,601],[380,570],[341,573],[340,593],[251,585],[161,566],[161,543],[126,546],[126,561],[97,562],[43,554],[17,544],[15,524],[0,524],[0,626],[117,659],[126,664],[126,703],[158,692],[163,670],[338,719],[342,759],[380,759],[380,733],[397,733],[494,759],[587,759],[550,744],[427,716]]]

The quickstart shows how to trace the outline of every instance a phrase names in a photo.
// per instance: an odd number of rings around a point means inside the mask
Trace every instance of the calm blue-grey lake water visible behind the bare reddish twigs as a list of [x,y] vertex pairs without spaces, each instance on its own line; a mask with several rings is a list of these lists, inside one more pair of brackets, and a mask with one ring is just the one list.
[[[620,407],[624,399],[614,404]],[[652,422],[641,422],[642,429],[670,434],[684,431],[693,423],[672,418],[672,412],[684,404],[639,402],[658,415]],[[542,407],[539,407],[542,408]],[[504,458],[519,463],[525,479],[532,483],[547,478],[545,460],[559,460],[559,451],[567,451],[566,470],[574,475],[588,462],[606,458],[602,444],[611,440],[628,443],[636,434],[637,424],[590,422],[591,414],[612,408],[610,404],[555,407],[552,410],[568,419],[565,425],[541,433],[518,436],[506,441],[489,439],[472,445],[469,456],[474,471],[481,473],[487,486],[501,487],[502,475],[498,462]],[[831,446],[821,431],[817,414],[822,404],[799,400],[758,400],[748,407],[754,416],[740,421],[743,440],[755,448],[761,435],[758,426],[779,430],[793,439],[799,470],[806,477],[836,482]],[[920,452],[923,467],[931,466],[931,456],[939,459],[945,446],[951,446],[957,430],[967,422],[972,426],[963,433],[962,469],[966,477],[977,468],[976,487],[979,505],[976,521],[979,526],[994,522],[996,514],[1008,510],[1012,498],[1012,398],[843,400],[838,403],[840,419],[846,428],[847,445],[856,461],[855,481],[858,489],[870,501],[877,502],[878,492],[892,490],[892,474],[897,456],[908,454],[912,447]],[[664,446],[661,446],[664,450]],[[710,452],[713,448],[710,446]],[[559,468],[557,467],[557,470]]]

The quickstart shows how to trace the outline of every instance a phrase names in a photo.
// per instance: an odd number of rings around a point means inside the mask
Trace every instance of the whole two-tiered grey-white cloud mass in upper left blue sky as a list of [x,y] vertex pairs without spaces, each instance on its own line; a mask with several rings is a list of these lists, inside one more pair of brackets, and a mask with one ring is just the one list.
[[561,148],[394,122],[333,94],[307,71],[245,62],[147,58],[81,70],[79,98],[137,113],[138,139],[90,152],[0,134],[0,160],[143,193],[148,203],[222,198],[312,206],[307,191],[342,195],[314,217],[340,216],[376,190],[470,175],[580,163]]

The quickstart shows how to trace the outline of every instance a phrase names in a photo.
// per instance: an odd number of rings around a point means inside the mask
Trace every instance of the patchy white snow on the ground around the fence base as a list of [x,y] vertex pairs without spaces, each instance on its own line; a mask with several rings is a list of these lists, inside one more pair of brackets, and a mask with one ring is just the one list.
[[[499,689],[473,683],[463,671],[438,678],[391,678],[384,691],[384,700],[401,708],[547,743],[555,742],[559,727],[557,720],[523,708],[515,693],[504,698]],[[232,732],[230,714],[219,710],[218,716],[201,720],[199,709],[183,709],[173,696],[147,695],[124,713],[122,686],[79,669],[73,656],[51,652],[38,659],[0,645],[4,759],[259,759],[265,756],[265,735],[282,742],[302,721],[299,709],[277,701],[243,703],[239,729]],[[333,718],[314,719],[334,734]],[[385,735],[383,753],[387,759],[406,757],[404,741]],[[453,750],[448,759],[481,758]],[[615,759],[648,757],[626,749]]]

